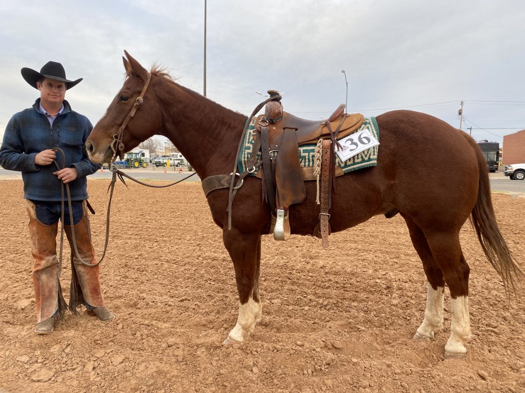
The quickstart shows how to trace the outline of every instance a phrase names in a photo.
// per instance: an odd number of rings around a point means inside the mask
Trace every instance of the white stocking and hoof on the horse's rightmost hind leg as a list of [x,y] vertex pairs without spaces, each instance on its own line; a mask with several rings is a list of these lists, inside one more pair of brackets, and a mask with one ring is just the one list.
[[467,348],[464,343],[470,340],[470,315],[468,313],[468,296],[450,299],[452,318],[450,320],[450,337],[445,345],[445,357],[464,357]]

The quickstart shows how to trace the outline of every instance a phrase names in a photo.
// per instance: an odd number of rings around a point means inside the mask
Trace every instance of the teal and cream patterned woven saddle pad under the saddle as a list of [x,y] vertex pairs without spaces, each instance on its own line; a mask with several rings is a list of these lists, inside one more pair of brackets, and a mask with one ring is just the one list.
[[[251,134],[251,130],[255,128],[255,118],[251,119],[250,124],[248,125],[248,130],[244,138],[243,147],[240,149],[239,157],[237,161],[237,167],[239,173],[246,171],[246,165],[251,156],[251,150],[254,145],[254,135]],[[375,121],[375,117],[365,117],[364,122],[359,129],[355,132],[360,132],[363,129],[368,129],[370,133],[379,141],[379,127]],[[316,145],[304,145],[299,147],[299,161],[301,167],[313,167],[314,165],[314,151]],[[367,167],[375,167],[377,165],[377,150],[379,146],[371,147],[370,149],[363,150],[359,154],[350,157],[346,161],[341,161],[339,156],[334,155],[335,164],[342,169],[343,173],[351,172],[358,169],[363,169]],[[277,154],[277,153],[275,153]],[[257,161],[261,161],[261,152],[260,149],[257,152]],[[250,173],[251,176],[255,176],[257,171]]]

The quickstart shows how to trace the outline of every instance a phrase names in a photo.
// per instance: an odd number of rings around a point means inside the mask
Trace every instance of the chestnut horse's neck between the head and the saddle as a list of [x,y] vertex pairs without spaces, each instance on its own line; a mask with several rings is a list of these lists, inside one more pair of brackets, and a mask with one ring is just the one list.
[[199,176],[232,172],[246,116],[177,84],[169,84],[159,98],[166,116],[164,135]]

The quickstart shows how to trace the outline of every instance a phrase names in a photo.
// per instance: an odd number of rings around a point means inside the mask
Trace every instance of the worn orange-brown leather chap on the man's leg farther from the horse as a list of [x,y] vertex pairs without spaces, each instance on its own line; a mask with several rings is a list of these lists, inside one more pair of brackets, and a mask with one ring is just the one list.
[[[33,265],[33,286],[37,323],[47,321],[58,309],[59,292],[56,236],[58,223],[44,225],[36,218],[35,205],[28,201],[29,237]],[[53,319],[53,318],[51,318]],[[46,325],[47,326],[47,325]],[[51,333],[53,326],[51,326]]]

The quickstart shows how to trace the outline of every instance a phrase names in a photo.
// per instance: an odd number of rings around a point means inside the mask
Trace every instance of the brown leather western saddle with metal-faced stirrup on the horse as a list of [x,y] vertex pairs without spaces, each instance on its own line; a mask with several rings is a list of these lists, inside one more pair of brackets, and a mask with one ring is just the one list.
[[[279,94],[275,90],[269,90],[268,93],[270,97]],[[256,118],[253,156],[260,147],[262,197],[270,204],[272,215],[276,216],[276,240],[286,240],[290,237],[288,209],[290,205],[301,203],[306,198],[299,146],[315,145],[319,139],[327,140],[332,146],[326,153],[332,156],[327,157],[331,168],[331,175],[327,178],[327,182],[330,183],[327,203],[330,204],[331,179],[335,165],[332,141],[335,143],[336,139],[352,134],[364,121],[363,115],[346,114],[344,108],[345,105],[341,104],[326,121],[316,122],[284,112],[280,100],[276,100],[268,102],[265,114]],[[322,228],[323,226],[321,230]]]

